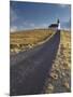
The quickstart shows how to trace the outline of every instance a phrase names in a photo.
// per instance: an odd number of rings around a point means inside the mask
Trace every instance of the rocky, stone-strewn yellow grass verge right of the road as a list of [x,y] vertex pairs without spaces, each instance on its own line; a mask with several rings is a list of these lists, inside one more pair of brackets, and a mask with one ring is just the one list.
[[71,92],[71,32],[61,31],[59,50],[46,79],[44,93],[67,92]]

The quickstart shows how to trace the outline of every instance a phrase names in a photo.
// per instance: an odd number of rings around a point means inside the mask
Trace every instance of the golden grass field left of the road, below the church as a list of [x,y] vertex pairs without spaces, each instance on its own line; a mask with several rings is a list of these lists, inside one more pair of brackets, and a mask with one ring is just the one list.
[[49,29],[34,29],[20,32],[13,32],[10,34],[10,50],[18,53],[38,45],[38,43],[46,40],[53,34]]

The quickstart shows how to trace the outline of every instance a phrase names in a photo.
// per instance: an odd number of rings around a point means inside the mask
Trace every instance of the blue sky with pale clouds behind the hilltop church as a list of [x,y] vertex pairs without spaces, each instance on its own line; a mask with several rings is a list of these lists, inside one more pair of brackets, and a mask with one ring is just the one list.
[[71,28],[71,5],[10,1],[10,30],[48,28],[60,19],[61,29]]

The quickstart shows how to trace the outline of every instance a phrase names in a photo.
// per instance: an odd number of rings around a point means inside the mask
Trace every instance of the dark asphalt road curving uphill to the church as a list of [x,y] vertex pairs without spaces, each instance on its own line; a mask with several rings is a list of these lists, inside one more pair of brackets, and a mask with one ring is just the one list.
[[59,42],[60,31],[57,31],[46,43],[11,56],[11,96],[41,94]]

